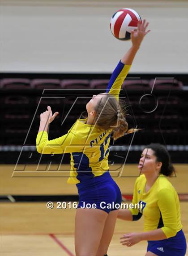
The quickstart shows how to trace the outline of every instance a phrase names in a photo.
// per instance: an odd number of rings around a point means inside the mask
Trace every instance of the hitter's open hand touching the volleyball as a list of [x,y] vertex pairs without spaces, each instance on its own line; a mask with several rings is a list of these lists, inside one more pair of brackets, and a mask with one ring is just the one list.
[[145,19],[143,22],[138,21],[138,27],[131,31],[131,41],[132,45],[139,47],[142,40],[144,39],[144,36],[147,35],[147,33],[150,32],[150,30],[146,31],[146,28],[148,27],[149,22],[146,22]]

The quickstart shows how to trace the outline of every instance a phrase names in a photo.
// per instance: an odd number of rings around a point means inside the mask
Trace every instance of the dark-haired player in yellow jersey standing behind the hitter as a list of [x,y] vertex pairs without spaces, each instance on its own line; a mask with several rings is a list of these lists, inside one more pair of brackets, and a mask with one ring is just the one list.
[[182,231],[178,194],[166,176],[174,167],[167,149],[161,144],[147,145],[141,154],[138,169],[141,172],[134,186],[132,203],[138,209],[120,209],[118,218],[139,220],[144,216],[144,231],[125,234],[120,241],[131,247],[148,241],[146,256],[184,256],[186,240]]

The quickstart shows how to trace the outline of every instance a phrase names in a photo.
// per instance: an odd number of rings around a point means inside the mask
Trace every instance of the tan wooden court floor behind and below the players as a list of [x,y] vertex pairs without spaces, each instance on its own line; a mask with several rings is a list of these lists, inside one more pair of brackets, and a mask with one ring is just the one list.
[[[0,166],[0,195],[63,195],[76,194],[74,185],[66,178],[13,178],[15,166]],[[117,166],[116,166],[117,167]],[[30,166],[34,169],[35,166]],[[66,169],[67,166],[64,166]],[[175,165],[176,177],[171,178],[178,193],[188,194],[188,169]],[[114,167],[115,170],[115,167]],[[126,176],[115,178],[122,194],[132,194],[136,180],[136,165],[125,166]],[[188,202],[180,202],[183,230],[188,241]],[[0,256],[73,256],[75,209],[47,209],[46,202],[1,202],[0,204]],[[117,220],[108,256],[144,256],[147,242],[124,247],[122,234],[139,232],[143,219],[137,222]],[[188,254],[187,254],[188,255]]]

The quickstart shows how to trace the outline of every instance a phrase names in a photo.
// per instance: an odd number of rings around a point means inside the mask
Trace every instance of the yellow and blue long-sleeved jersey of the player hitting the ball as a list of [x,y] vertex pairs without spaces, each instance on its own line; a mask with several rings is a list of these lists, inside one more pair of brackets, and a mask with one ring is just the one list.
[[[106,92],[119,100],[121,85],[131,66],[118,63],[107,86]],[[71,171],[68,183],[77,184],[102,175],[108,167],[111,130],[102,130],[86,124],[86,119],[77,119],[68,133],[57,139],[48,140],[46,131],[38,133],[37,151],[42,154],[71,153]]]

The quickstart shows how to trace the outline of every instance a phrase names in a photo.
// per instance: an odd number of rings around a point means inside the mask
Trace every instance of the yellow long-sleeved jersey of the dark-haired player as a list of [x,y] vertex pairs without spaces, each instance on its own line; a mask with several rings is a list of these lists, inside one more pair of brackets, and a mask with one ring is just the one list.
[[164,175],[159,175],[150,190],[145,193],[146,178],[141,175],[134,185],[132,203],[139,203],[140,209],[129,209],[133,220],[144,216],[144,231],[161,228],[167,238],[182,229],[179,197],[175,188]]

